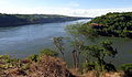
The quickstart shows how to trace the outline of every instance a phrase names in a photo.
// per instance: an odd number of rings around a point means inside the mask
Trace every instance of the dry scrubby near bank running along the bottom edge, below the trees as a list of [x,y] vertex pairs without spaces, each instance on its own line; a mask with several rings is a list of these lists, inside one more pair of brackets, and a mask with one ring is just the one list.
[[[86,74],[73,70],[68,69],[66,63],[58,57],[43,55],[37,62],[34,62],[28,58],[12,59],[7,55],[0,55],[0,77],[98,77],[97,70],[90,70]],[[123,76],[123,72],[102,72],[100,74],[100,77]]]

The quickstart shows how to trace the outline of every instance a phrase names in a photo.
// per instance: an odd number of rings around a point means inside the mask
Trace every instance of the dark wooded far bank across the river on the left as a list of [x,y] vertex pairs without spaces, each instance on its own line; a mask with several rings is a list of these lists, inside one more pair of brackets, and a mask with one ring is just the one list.
[[[0,26],[15,26],[24,24],[52,23],[74,21],[86,18],[74,18],[56,14],[2,14],[0,13]],[[88,18],[87,18],[88,19]]]

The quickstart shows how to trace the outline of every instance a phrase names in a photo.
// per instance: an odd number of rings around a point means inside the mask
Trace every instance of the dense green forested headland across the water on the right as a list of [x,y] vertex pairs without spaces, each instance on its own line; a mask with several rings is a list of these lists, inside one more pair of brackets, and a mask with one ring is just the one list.
[[132,37],[132,12],[107,13],[92,19],[80,28],[86,32],[91,30],[101,36]]

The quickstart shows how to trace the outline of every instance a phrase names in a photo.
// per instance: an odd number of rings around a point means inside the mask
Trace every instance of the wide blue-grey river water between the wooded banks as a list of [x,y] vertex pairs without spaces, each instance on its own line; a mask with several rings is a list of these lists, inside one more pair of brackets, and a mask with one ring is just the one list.
[[[89,20],[0,28],[0,55],[23,58],[37,54],[43,48],[54,48],[52,38],[55,36],[67,36],[66,25],[87,21]],[[110,37],[101,37],[98,41],[103,38]],[[111,37],[110,40],[113,41],[113,46],[119,52],[114,59],[117,66],[123,63],[132,63],[132,40],[117,37]],[[67,56],[69,54],[66,54]],[[67,59],[72,62],[72,58],[67,57]]]

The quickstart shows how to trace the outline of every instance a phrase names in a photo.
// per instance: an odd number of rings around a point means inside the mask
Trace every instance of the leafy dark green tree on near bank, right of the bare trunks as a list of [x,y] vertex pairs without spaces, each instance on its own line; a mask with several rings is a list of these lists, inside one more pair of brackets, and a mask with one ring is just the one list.
[[113,50],[111,46],[112,42],[110,41],[102,41],[98,45],[88,45],[84,46],[84,54],[86,58],[86,64],[91,62],[95,63],[95,68],[98,70],[116,70],[114,66],[112,64],[109,64],[105,61],[106,57],[114,57],[118,52],[117,50]]

